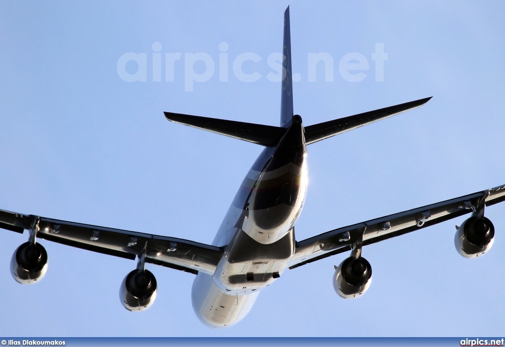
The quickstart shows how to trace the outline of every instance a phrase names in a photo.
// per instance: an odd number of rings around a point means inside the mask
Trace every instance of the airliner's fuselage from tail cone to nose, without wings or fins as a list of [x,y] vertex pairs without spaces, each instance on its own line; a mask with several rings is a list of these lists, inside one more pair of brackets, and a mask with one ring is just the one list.
[[250,168],[213,242],[224,248],[216,272],[198,274],[193,284],[193,308],[204,322],[227,325],[242,318],[256,299],[251,294],[287,268],[294,254],[293,226],[305,200],[306,158],[304,130],[297,123]]

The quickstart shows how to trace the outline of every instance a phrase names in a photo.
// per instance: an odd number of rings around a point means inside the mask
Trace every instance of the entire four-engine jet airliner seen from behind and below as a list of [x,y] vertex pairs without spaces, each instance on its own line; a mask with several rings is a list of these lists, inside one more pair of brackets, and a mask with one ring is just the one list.
[[127,310],[143,311],[153,305],[157,281],[145,263],[156,264],[195,274],[191,300],[196,316],[207,325],[222,327],[243,319],[259,291],[286,269],[344,252],[350,255],[335,266],[333,286],[344,299],[359,298],[372,280],[371,265],[362,257],[364,245],[452,218],[471,213],[455,235],[462,256],[477,258],[490,249],[494,226],[484,217],[484,208],[505,200],[505,185],[296,241],[294,226],[307,191],[307,145],[418,108],[430,98],[304,126],[293,112],[289,8],[284,13],[283,55],[279,127],[165,112],[172,122],[264,146],[212,244],[0,210],[0,228],[29,231],[28,241],[11,260],[14,279],[33,284],[43,278],[47,253],[38,239],[136,259],[136,269],[120,287]]

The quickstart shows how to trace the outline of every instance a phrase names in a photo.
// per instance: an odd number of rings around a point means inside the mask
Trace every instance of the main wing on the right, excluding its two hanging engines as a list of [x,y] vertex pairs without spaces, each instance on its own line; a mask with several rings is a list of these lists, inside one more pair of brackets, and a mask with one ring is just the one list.
[[350,251],[353,242],[350,234],[353,232],[363,231],[363,245],[372,244],[471,213],[472,207],[478,206],[483,198],[486,206],[505,201],[505,185],[334,229],[296,242],[295,254],[289,269]]

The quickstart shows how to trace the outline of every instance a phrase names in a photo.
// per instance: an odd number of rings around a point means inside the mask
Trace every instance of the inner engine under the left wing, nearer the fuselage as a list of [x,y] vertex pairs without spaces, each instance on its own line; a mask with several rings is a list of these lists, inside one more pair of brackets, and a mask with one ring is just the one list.
[[143,311],[153,305],[157,291],[155,276],[150,271],[137,269],[124,278],[119,299],[128,311]]

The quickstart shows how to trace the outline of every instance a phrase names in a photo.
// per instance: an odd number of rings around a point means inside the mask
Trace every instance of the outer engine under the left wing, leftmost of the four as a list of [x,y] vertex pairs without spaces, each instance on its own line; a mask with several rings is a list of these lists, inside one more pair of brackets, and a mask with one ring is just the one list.
[[25,242],[20,245],[11,259],[11,274],[16,282],[34,284],[47,271],[47,252],[40,243]]

